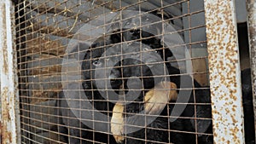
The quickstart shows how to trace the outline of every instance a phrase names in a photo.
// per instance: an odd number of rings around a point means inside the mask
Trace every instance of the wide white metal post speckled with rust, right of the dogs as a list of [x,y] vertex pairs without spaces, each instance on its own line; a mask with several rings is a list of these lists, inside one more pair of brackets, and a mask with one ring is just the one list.
[[214,143],[245,143],[235,0],[204,0]]

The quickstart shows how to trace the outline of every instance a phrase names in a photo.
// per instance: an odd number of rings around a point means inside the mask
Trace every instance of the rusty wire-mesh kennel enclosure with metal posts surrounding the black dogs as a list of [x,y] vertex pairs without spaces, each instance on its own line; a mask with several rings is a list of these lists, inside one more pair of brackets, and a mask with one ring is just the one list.
[[[164,47],[167,47],[165,41],[168,43],[168,36],[177,34],[178,37],[175,37],[177,38],[175,40],[178,40],[178,42],[171,46],[167,44],[168,49],[172,49],[172,52],[174,52],[178,48],[185,48],[188,52],[181,53],[183,50],[177,50],[178,52],[174,53],[177,54],[175,58],[170,56],[164,62],[170,62],[171,65],[176,66],[175,63],[178,61],[180,64],[178,68],[183,71],[181,75],[189,75],[201,84],[201,88],[196,88],[192,84],[190,90],[194,97],[195,90],[211,90],[210,103],[194,101],[188,105],[195,107],[195,113],[198,106],[211,106],[212,118],[197,118],[195,114],[193,117],[189,117],[191,121],[194,121],[194,131],[172,130],[170,125],[166,131],[193,135],[195,136],[193,137],[195,143],[200,143],[201,135],[213,136],[215,143],[245,143],[241,100],[241,67],[247,68],[243,66],[248,63],[250,63],[248,66],[252,70],[254,113],[256,89],[255,1],[243,2],[244,6],[245,4],[247,4],[250,59],[249,62],[246,61],[241,64],[240,61],[242,60],[240,60],[239,55],[242,55],[242,52],[239,52],[240,48],[238,48],[236,25],[237,22],[245,21],[241,19],[244,18],[243,16],[236,15],[238,6],[235,6],[235,1],[232,0],[225,2],[207,0],[55,0],[44,2],[25,0],[12,2],[5,0],[0,2],[0,31],[3,33],[0,38],[1,47],[3,48],[0,51],[1,141],[3,143],[66,143],[70,137],[73,137],[79,141],[100,143],[101,141],[97,141],[95,135],[101,133],[108,135],[106,140],[109,143],[111,141],[110,137],[113,135],[111,131],[91,129],[89,131],[93,135],[89,140],[83,137],[84,127],[81,124],[79,126],[67,124],[73,122],[74,116],[68,112],[65,115],[63,114],[64,111],[60,111],[63,109],[83,111],[79,107],[63,107],[58,103],[63,99],[63,97],[60,97],[61,92],[65,92],[65,90],[67,92],[74,90],[78,90],[79,93],[83,92],[78,87],[68,87],[67,85],[71,81],[68,78],[65,81],[64,77],[70,75],[75,77],[79,73],[86,72],[86,70],[78,68],[78,63],[75,63],[86,61],[83,60],[84,55],[82,55],[82,59],[73,59],[77,60],[75,62],[68,61],[70,63],[65,68],[70,69],[66,71],[63,71],[63,60],[67,57],[77,58],[80,53],[84,54],[86,49],[67,48],[73,48],[74,43],[81,41],[90,42],[90,47],[95,41],[103,43],[102,46],[96,45],[95,49],[101,49],[109,45],[114,47],[123,43],[137,43],[137,40],[140,43],[147,44],[149,43],[147,39],[153,38],[155,40],[160,37],[162,46],[157,49],[164,50]],[[131,12],[131,15],[128,13],[128,16],[125,16],[125,10],[136,11],[136,13]],[[158,19],[151,23],[147,22],[149,19],[147,15],[150,14],[154,14]],[[136,25],[124,28],[122,25],[125,24],[125,20],[130,19],[137,19],[134,23],[130,21],[131,24]],[[87,32],[79,32],[84,30],[83,26],[86,27]],[[108,31],[111,26],[114,27],[113,31]],[[152,31],[156,32],[154,35],[143,37],[143,31],[148,30],[147,27],[150,26],[162,27],[160,29],[156,28],[156,31],[153,29]],[[168,30],[165,26],[172,26],[172,31],[165,31]],[[132,38],[129,40],[122,39],[122,37],[125,37],[125,32],[134,33],[136,31],[139,33],[136,40]],[[112,33],[121,36],[120,42],[107,43],[106,39],[111,37]],[[137,52],[143,55],[145,52],[142,51],[142,45],[139,46],[140,50]],[[146,48],[149,49],[147,46]],[[124,56],[122,52],[120,54],[120,56]],[[165,54],[164,51],[163,55]],[[102,57],[107,59],[109,55],[106,56],[105,54]],[[165,59],[165,56],[163,57]],[[97,62],[94,64],[99,65]],[[152,63],[153,66],[164,64],[163,61],[154,62]],[[143,66],[143,64],[138,64],[138,66],[140,65]],[[172,74],[161,73],[160,77],[172,78]],[[102,78],[99,80],[103,83],[103,81],[109,79]],[[125,78],[121,77],[120,79],[124,81]],[[96,78],[90,80],[93,81]],[[78,81],[83,82],[85,80],[73,79],[73,83]],[[67,84],[67,87],[63,89],[65,84]],[[92,91],[92,89],[89,90]],[[80,96],[79,93],[74,93],[78,94],[77,98]],[[106,98],[90,102],[105,102],[107,100]],[[111,101],[108,100],[108,102]],[[170,105],[175,105],[175,103],[170,102]],[[62,115],[60,112],[62,112]],[[113,113],[110,110],[100,110],[100,112],[105,112],[108,116]],[[80,115],[79,117],[83,119],[83,116]],[[164,118],[164,116],[159,117]],[[63,124],[63,119],[67,123],[64,122]],[[200,120],[212,121],[212,133],[200,131],[200,128],[197,128],[196,124]],[[96,121],[93,122],[96,123]],[[108,119],[107,124],[110,123],[111,120]],[[65,133],[60,131],[63,127],[67,129]],[[78,130],[79,135],[71,135],[69,129]],[[147,129],[155,130],[145,126],[145,130]],[[172,137],[170,134],[168,136],[168,142],[171,143]],[[129,135],[124,135],[124,137],[143,141],[144,143],[164,143],[148,140],[146,135],[143,140]]]

